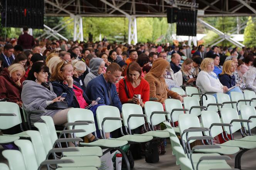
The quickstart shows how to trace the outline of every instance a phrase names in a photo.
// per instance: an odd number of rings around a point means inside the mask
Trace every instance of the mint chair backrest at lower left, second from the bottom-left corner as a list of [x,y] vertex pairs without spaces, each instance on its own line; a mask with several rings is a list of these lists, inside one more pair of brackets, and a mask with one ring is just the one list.
[[19,150],[4,150],[2,155],[8,160],[10,170],[27,170],[24,158]]

